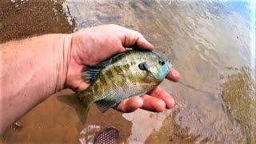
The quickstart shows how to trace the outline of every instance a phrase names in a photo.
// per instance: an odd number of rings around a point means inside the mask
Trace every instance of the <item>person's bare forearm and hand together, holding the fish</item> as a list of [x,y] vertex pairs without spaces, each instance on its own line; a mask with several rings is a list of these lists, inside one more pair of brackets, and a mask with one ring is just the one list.
[[[142,34],[117,25],[0,44],[0,135],[50,94],[65,88],[85,90],[90,84],[81,77],[82,67],[102,62],[126,47],[154,50]],[[166,78],[177,82],[179,74],[171,69]],[[149,94],[120,102],[116,109],[161,112],[174,104],[174,98],[157,87]]]

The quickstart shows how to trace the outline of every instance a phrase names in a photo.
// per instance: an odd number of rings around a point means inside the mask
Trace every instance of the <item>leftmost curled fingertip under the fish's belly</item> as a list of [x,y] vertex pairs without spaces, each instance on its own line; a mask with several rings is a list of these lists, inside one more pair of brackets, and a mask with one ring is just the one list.
[[127,98],[124,101],[120,102],[117,110],[130,113],[134,110],[137,110],[138,108],[141,108],[143,106],[143,100],[141,97],[134,96],[132,98]]

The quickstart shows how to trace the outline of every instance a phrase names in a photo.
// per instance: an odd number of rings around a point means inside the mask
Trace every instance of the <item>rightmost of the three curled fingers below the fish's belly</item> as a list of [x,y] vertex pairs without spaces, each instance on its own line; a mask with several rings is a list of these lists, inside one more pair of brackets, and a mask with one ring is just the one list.
[[162,101],[166,103],[166,109],[171,109],[175,106],[174,98],[161,87],[156,87],[154,90],[151,90],[149,94],[152,97],[162,99]]

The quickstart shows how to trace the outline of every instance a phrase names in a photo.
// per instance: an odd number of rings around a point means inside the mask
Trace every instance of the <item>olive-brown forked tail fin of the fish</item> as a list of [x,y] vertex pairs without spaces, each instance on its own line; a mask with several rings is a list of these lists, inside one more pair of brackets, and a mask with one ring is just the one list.
[[70,94],[70,95],[61,95],[58,97],[58,101],[64,102],[67,105],[73,107],[77,114],[78,118],[82,123],[86,122],[87,114],[90,110],[91,103],[84,104],[82,103],[77,94]]

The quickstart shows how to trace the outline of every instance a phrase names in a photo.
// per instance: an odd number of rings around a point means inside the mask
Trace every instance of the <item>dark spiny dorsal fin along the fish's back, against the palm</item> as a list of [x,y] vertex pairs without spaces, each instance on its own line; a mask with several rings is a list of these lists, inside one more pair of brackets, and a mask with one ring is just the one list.
[[122,54],[125,54],[125,52],[116,54],[114,57],[111,57],[106,61],[99,62],[94,66],[84,66],[82,69],[82,77],[86,80],[86,82],[90,82],[90,83],[95,82],[95,80],[98,77],[98,74],[103,69],[105,69],[106,66],[109,66],[113,62],[116,62],[118,60],[118,57],[120,57]]

